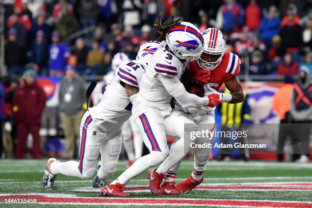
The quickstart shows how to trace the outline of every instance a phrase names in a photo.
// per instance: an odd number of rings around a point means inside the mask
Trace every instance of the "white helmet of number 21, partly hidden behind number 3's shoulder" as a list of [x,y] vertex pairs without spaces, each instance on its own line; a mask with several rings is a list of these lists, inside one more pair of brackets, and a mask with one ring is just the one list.
[[147,41],[140,46],[136,60],[145,68],[148,61],[160,46],[158,41]]

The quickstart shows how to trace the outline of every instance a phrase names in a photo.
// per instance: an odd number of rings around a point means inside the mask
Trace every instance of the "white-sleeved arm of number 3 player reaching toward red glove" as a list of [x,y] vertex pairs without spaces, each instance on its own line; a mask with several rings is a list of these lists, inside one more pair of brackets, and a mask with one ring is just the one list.
[[199,97],[195,94],[188,93],[177,77],[159,74],[158,79],[162,82],[169,94],[178,101],[182,108],[206,106],[208,104],[209,99],[207,97]]

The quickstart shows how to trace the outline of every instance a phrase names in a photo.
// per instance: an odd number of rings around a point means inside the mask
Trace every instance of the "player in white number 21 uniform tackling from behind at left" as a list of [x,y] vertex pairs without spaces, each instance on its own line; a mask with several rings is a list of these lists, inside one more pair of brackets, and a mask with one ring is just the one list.
[[[150,44],[143,44],[141,47],[149,47]],[[159,43],[153,42],[153,45]],[[82,119],[80,162],[49,159],[42,178],[44,190],[53,189],[58,174],[91,177],[96,171],[99,153],[101,166],[93,180],[93,187],[115,172],[121,150],[121,127],[131,116],[132,104],[128,94],[138,91],[138,81],[145,71],[143,65],[151,56],[149,54],[141,57],[140,61],[130,61],[118,67],[116,76],[102,91],[101,101],[97,106],[89,108]]]

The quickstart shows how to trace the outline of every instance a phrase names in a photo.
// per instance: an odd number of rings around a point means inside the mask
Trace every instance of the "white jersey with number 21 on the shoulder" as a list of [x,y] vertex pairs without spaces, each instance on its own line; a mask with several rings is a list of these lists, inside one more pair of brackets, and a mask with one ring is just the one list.
[[138,87],[143,67],[137,61],[123,63],[118,67],[115,78],[100,93],[97,106],[89,108],[96,125],[103,131],[119,131],[131,116],[132,103],[120,81]]

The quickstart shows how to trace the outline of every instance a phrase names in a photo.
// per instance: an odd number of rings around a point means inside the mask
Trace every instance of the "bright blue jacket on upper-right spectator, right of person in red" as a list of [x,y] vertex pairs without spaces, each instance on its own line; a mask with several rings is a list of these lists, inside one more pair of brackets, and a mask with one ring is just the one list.
[[280,18],[265,18],[260,23],[261,40],[271,43],[274,35],[279,33]]

